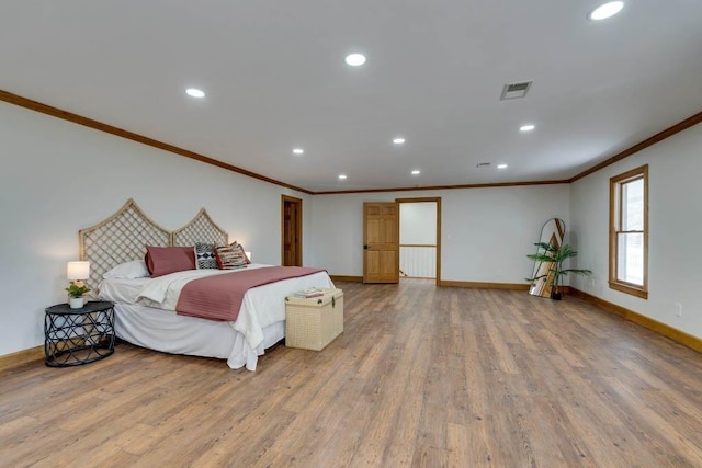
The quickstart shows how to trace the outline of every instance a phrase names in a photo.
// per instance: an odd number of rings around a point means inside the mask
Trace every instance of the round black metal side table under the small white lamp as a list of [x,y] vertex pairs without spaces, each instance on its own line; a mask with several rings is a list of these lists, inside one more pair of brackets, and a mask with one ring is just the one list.
[[114,305],[86,303],[80,309],[59,304],[46,309],[44,362],[49,367],[79,366],[114,353]]

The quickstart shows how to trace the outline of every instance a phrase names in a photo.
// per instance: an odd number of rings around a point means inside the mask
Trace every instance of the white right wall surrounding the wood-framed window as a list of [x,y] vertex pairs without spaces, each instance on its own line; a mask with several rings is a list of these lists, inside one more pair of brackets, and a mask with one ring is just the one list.
[[[609,180],[648,167],[648,299],[610,289]],[[570,213],[582,267],[593,271],[573,285],[597,297],[702,336],[702,125],[665,139],[571,184]],[[675,316],[675,304],[683,306]]]

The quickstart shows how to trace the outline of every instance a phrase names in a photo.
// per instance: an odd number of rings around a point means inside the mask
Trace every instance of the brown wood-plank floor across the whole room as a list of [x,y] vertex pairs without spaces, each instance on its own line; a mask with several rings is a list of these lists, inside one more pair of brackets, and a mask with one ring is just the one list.
[[0,374],[0,466],[699,467],[702,355],[578,299],[339,284],[256,373],[126,343]]

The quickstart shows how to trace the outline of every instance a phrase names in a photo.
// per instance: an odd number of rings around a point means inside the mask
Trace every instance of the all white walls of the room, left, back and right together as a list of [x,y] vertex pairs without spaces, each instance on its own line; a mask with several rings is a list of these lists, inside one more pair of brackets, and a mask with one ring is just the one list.
[[[66,299],[77,232],[129,197],[167,229],[201,207],[251,250],[280,263],[281,194],[303,198],[304,263],[363,274],[363,202],[442,197],[442,279],[524,283],[543,222],[566,221],[579,267],[573,284],[702,336],[702,125],[571,185],[308,196],[79,125],[0,103],[0,355],[43,343],[44,308]],[[649,163],[649,298],[607,287],[609,178]],[[683,305],[683,317],[673,313]]]

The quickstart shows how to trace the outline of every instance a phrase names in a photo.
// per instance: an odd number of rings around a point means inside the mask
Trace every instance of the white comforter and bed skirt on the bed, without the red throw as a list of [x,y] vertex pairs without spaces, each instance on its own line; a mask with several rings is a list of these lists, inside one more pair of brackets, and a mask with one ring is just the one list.
[[[268,265],[249,265],[249,267],[261,266]],[[242,343],[244,347],[238,351],[236,350],[237,346],[231,344],[229,355],[227,356],[227,364],[233,368],[239,368],[246,365],[247,369],[254,370],[257,357],[263,354],[263,349],[272,345],[284,336],[285,297],[295,290],[308,287],[333,287],[329,275],[326,272],[319,272],[308,276],[283,279],[251,288],[244,296],[239,316],[234,322],[213,322],[212,320],[179,316],[172,311],[176,308],[178,299],[177,297],[173,299],[172,295],[168,294],[169,288],[177,289],[190,279],[220,273],[231,273],[231,271],[192,270],[172,273],[158,278],[103,279],[99,287],[99,295],[101,299],[111,300],[117,305],[115,307],[115,313],[117,316],[115,319],[117,323],[115,328],[117,336],[122,339],[159,351],[222,357],[220,355],[213,356],[211,347],[215,344],[208,343],[208,341],[212,340],[212,336],[208,334],[208,332],[213,332],[212,324],[217,323],[217,330],[220,330],[224,326],[224,328],[228,327],[233,331],[231,343],[237,342],[237,340],[245,342]],[[141,306],[141,308],[122,307],[127,305]],[[120,312],[121,310],[124,310],[125,313],[122,315]],[[158,318],[150,318],[147,321],[144,318],[139,318],[139,313],[144,313],[145,311],[148,312],[149,317],[155,316],[155,313],[163,313],[168,315],[169,319],[163,318],[163,320],[160,320]],[[173,333],[176,322],[185,323],[183,330],[193,330],[191,333],[192,336],[185,338],[186,333],[183,334],[181,332]],[[195,330],[193,327],[199,322],[206,323]],[[137,332],[136,330],[139,327],[146,327],[148,329]],[[273,330],[275,327],[278,327],[278,329],[282,327],[283,334],[272,343],[267,343],[275,333],[269,333],[267,336],[265,331]],[[121,331],[124,332],[124,335],[120,333]],[[237,336],[237,334],[240,335]],[[138,339],[140,341],[139,343],[133,341],[137,340],[137,335],[141,336]],[[133,340],[129,340],[129,336]],[[267,340],[267,338],[269,340]],[[217,340],[226,341],[226,339],[223,339],[219,334]],[[216,345],[218,346],[219,344]],[[229,346],[228,344],[222,345],[225,347]],[[188,349],[188,352],[183,352],[183,349]]]

